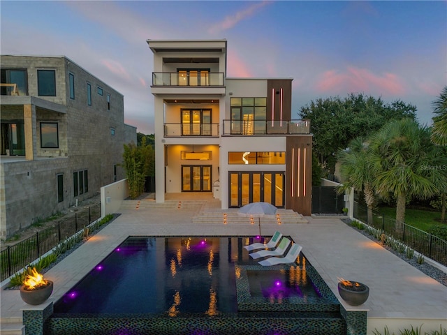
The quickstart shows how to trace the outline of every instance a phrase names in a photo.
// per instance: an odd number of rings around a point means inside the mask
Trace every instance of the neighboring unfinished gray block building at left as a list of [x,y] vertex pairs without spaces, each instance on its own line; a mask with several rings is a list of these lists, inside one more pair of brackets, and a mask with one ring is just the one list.
[[66,57],[2,55],[0,237],[124,178],[124,97]]

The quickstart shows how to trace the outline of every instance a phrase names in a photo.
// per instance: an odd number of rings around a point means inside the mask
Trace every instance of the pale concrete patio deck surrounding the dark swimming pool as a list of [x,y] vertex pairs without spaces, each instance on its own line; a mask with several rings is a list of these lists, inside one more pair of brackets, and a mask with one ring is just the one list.
[[[174,194],[167,195],[166,201],[170,205],[157,206],[153,200],[124,201],[119,211],[122,215],[47,271],[45,278],[54,281],[50,301],[57,301],[129,235],[237,236],[258,233],[258,225],[251,225],[249,220],[246,224],[194,224],[193,217],[201,212],[221,211],[219,200],[212,199],[212,195],[198,198],[192,194]],[[174,206],[176,201],[191,202],[190,206]],[[232,210],[237,211],[228,211]],[[307,221],[278,225],[272,220],[263,223],[263,234],[271,235],[280,230],[301,244],[302,253],[337,297],[339,277],[368,285],[369,299],[362,306],[349,306],[339,298],[348,311],[367,311],[367,334],[372,334],[374,329],[383,332],[386,325],[391,333],[397,334],[399,329],[411,328],[411,325],[419,327],[423,324],[423,332],[439,330],[440,325],[447,328],[446,286],[386,251],[339,218],[307,217]],[[18,291],[1,290],[2,334],[6,334],[6,328],[3,328],[6,322],[22,322],[22,308],[29,307],[20,299]]]

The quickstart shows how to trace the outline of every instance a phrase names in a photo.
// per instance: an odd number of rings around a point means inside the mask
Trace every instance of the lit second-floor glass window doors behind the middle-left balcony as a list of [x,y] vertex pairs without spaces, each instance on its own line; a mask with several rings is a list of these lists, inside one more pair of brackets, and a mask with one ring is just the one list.
[[182,135],[209,136],[211,132],[211,110],[183,110]]

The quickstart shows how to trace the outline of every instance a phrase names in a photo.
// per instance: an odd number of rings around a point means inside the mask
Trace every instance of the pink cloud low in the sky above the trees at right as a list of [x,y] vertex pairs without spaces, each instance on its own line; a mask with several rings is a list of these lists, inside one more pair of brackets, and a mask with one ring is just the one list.
[[319,91],[338,93],[365,92],[367,94],[402,95],[404,84],[394,73],[378,75],[365,68],[349,66],[346,71],[328,70],[316,83]]

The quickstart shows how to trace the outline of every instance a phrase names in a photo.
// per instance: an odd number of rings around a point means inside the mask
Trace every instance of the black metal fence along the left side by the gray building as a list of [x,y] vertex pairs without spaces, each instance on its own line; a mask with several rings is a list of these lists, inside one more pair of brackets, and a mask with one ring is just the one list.
[[73,236],[98,218],[101,218],[101,204],[80,210],[75,216],[61,220],[13,246],[8,246],[0,253],[0,281],[34,262],[61,241]]

